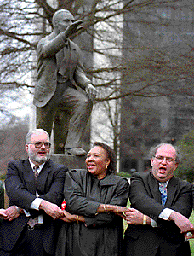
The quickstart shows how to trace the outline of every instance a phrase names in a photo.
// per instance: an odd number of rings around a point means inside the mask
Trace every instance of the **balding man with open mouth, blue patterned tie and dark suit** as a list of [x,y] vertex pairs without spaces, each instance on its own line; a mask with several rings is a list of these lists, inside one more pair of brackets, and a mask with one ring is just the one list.
[[132,208],[126,212],[123,255],[191,255],[185,234],[193,228],[188,219],[192,185],[174,177],[179,161],[177,148],[157,145],[151,148],[151,172],[134,173],[131,178]]

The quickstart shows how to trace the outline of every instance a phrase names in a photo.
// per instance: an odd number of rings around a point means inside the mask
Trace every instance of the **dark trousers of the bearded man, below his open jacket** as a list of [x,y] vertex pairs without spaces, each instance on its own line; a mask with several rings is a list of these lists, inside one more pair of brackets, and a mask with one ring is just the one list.
[[28,230],[27,226],[22,231],[12,251],[0,251],[0,256],[54,256],[43,249],[43,230]]

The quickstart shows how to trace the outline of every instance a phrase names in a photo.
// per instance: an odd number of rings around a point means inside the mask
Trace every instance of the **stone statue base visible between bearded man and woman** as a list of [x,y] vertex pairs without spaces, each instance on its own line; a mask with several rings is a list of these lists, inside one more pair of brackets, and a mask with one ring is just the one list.
[[55,163],[67,166],[71,169],[86,169],[85,166],[86,156],[66,155],[66,154],[51,154],[50,159]]

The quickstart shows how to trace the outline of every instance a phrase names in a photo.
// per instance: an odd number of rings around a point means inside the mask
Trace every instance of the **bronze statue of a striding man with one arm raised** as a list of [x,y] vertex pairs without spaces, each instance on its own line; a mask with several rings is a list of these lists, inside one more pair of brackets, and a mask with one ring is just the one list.
[[60,9],[52,22],[53,32],[37,44],[37,128],[49,135],[54,129],[54,154],[84,155],[83,134],[96,90],[83,72],[81,50],[69,39],[82,21]]

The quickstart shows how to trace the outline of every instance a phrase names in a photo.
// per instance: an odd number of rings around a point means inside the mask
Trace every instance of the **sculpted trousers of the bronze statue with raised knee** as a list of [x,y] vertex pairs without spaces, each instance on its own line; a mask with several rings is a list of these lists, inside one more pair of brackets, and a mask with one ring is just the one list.
[[82,148],[92,107],[92,101],[83,90],[66,88],[66,83],[58,83],[47,105],[37,107],[37,128],[49,135],[54,128],[54,154],[64,154],[64,148]]

